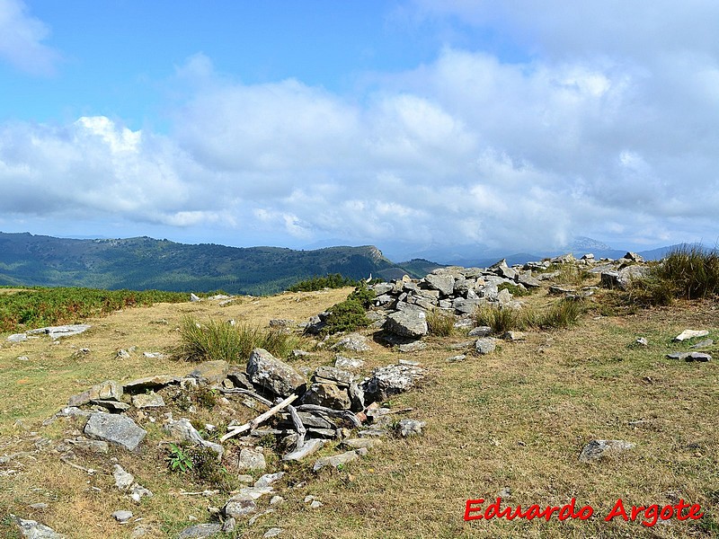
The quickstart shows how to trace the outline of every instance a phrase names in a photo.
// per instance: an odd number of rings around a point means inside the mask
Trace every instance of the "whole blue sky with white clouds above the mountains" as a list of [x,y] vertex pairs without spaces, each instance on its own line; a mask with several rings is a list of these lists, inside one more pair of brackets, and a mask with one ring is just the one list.
[[0,231],[719,242],[719,3],[0,0]]

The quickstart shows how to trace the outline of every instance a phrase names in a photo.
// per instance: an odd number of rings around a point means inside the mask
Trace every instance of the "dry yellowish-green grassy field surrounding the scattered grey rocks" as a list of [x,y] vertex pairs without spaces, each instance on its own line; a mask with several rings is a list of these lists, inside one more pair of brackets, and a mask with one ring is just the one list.
[[[221,507],[228,495],[182,495],[208,486],[168,471],[156,424],[147,426],[141,458],[120,450],[110,455],[155,492],[152,499],[134,504],[112,487],[107,455],[78,453],[77,464],[99,471],[88,475],[53,452],[58,442],[82,429],[81,422],[58,420],[43,428],[42,420],[65,405],[68,396],[103,380],[187,373],[191,365],[169,355],[143,356],[176,347],[183,317],[262,325],[271,318],[303,321],[350,291],[244,299],[226,307],[200,302],[130,308],[93,319],[92,330],[58,344],[45,339],[4,343],[0,455],[28,454],[0,464],[0,511],[39,520],[76,539],[129,538],[138,526],[147,527],[146,537],[174,537],[185,526],[207,522],[209,508]],[[386,440],[342,470],[313,473],[312,458],[286,466],[288,475],[277,487],[286,501],[253,526],[239,523],[235,535],[228,536],[262,537],[274,526],[283,528],[283,538],[303,539],[719,535],[719,349],[709,350],[715,352],[709,363],[665,358],[670,351],[688,349],[686,343],[671,342],[685,329],[706,329],[719,340],[719,305],[679,301],[634,314],[601,315],[616,311],[601,307],[611,299],[599,293],[590,304],[594,308],[574,327],[529,329],[525,340],[502,342],[492,354],[469,355],[463,362],[447,361],[458,353],[450,346],[466,340],[457,334],[430,337],[427,349],[412,354],[373,344],[371,352],[361,354],[367,372],[399,358],[420,361],[428,369],[418,389],[389,402],[395,409],[412,408],[398,417],[426,421],[425,434]],[[540,309],[555,300],[541,290],[521,301]],[[635,344],[638,337],[645,337],[648,346]],[[136,347],[131,358],[116,358],[118,349],[131,347]],[[321,349],[294,365],[332,363],[333,353]],[[211,417],[209,411],[198,412],[199,419]],[[582,446],[595,438],[624,439],[635,448],[599,464],[579,463]],[[330,446],[322,455],[332,452]],[[283,468],[268,460],[268,471]],[[303,503],[307,495],[324,505],[309,508]],[[594,517],[464,520],[467,499],[493,501],[500,495],[502,507],[545,508],[576,499],[578,508],[593,508]],[[618,517],[604,521],[617,499],[627,508],[685,499],[699,504],[704,517],[672,518],[655,526]],[[49,507],[30,508],[38,502]],[[121,508],[142,520],[118,525],[110,515]],[[0,535],[20,537],[2,514]]]

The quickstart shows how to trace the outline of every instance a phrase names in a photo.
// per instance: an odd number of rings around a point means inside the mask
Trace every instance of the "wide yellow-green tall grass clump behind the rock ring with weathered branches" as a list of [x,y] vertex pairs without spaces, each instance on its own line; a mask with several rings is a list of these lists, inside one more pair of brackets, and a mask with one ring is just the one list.
[[182,342],[174,356],[185,361],[244,363],[253,349],[266,349],[273,356],[287,358],[298,347],[296,335],[281,330],[264,330],[250,324],[231,325],[210,319],[199,323],[186,316],[180,327]]

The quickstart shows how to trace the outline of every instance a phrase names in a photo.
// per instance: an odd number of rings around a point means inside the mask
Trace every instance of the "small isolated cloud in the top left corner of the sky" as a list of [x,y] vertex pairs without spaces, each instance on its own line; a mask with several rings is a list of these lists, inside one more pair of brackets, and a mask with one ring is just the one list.
[[0,57],[31,75],[50,75],[59,54],[42,43],[47,25],[27,12],[21,0],[0,0]]

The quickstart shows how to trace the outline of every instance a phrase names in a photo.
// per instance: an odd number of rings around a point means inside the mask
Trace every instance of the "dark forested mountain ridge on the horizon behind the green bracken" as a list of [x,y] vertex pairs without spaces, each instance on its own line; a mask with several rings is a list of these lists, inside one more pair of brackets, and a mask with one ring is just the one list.
[[303,278],[423,277],[431,261],[401,264],[377,247],[295,251],[280,247],[190,245],[138,237],[69,239],[0,233],[0,285],[129,288],[231,294],[272,294]]

